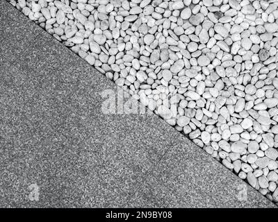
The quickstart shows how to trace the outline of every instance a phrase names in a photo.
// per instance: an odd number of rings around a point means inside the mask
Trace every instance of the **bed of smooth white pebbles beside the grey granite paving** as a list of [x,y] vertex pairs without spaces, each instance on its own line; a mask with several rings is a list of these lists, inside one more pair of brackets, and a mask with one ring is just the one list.
[[10,3],[278,205],[278,0]]

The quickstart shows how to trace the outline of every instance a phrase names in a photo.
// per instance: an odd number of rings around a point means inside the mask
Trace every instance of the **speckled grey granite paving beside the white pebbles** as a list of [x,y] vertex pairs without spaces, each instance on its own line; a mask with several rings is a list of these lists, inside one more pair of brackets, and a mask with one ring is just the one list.
[[0,19],[0,207],[275,207],[155,114],[104,114],[114,83],[4,0]]

